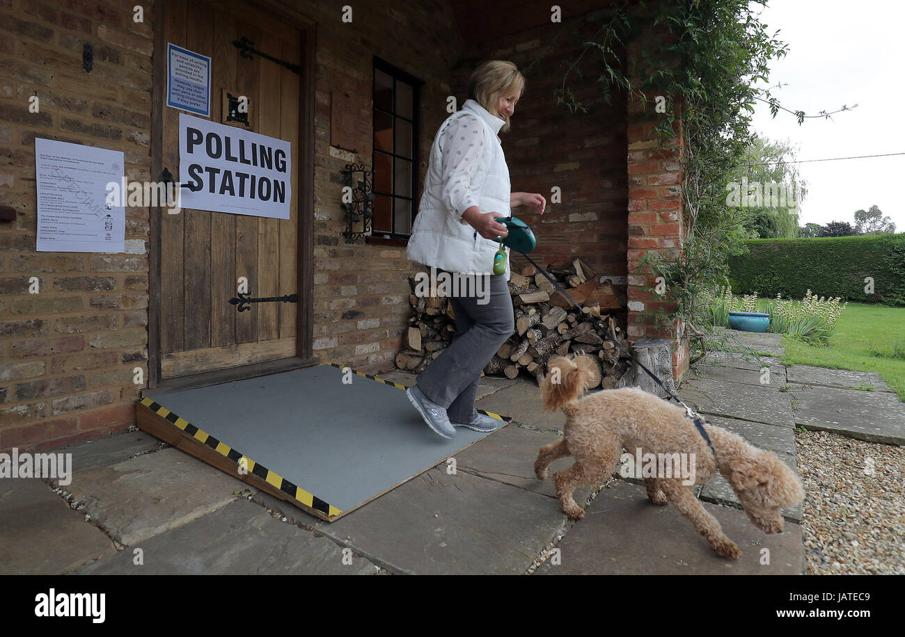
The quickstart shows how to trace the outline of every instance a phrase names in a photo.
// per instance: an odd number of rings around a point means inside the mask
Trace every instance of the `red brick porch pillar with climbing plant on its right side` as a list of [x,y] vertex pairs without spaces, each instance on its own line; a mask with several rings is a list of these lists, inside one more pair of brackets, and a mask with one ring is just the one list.
[[[629,55],[637,45],[629,46]],[[678,342],[681,325],[658,325],[658,310],[672,312],[674,304],[656,293],[655,276],[640,259],[648,252],[672,252],[683,239],[681,196],[681,134],[670,149],[662,149],[651,133],[657,124],[656,92],[643,101],[630,97],[627,105],[628,136],[628,337],[643,336],[672,341],[672,376],[681,379],[688,370],[688,342]],[[681,133],[681,128],[679,129]]]

